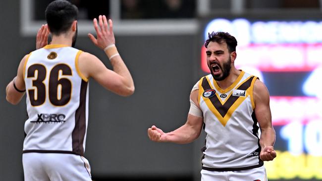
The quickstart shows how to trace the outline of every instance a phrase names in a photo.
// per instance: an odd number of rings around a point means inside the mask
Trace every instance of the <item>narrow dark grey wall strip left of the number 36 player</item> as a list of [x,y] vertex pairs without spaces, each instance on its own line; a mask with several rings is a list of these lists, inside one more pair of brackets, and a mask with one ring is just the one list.
[[0,175],[1,180],[22,180],[21,150],[25,105],[12,106],[5,100],[5,86],[17,72],[20,51],[18,0],[0,1]]

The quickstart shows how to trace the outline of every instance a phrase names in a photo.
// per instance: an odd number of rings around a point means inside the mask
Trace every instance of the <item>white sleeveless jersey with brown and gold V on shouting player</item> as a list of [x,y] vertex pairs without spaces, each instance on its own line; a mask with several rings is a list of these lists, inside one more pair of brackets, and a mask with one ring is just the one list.
[[207,133],[203,169],[237,171],[263,166],[253,88],[257,77],[241,72],[226,90],[207,75],[198,83],[198,101]]

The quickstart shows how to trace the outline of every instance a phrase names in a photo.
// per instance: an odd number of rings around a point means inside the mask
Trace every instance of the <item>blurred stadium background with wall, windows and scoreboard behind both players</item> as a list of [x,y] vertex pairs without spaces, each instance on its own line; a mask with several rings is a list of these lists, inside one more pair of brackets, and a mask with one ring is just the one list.
[[[0,175],[22,181],[25,100],[12,106],[5,86],[35,49],[52,0],[0,1]],[[114,21],[118,50],[136,86],[120,97],[90,82],[86,157],[95,181],[200,181],[204,134],[186,145],[154,143],[147,128],[172,131],[186,121],[189,94],[203,75],[209,31],[238,41],[238,67],[259,76],[271,95],[275,149],[270,181],[322,181],[321,0],[71,0],[79,7],[76,47],[103,51],[87,38],[92,21]]]

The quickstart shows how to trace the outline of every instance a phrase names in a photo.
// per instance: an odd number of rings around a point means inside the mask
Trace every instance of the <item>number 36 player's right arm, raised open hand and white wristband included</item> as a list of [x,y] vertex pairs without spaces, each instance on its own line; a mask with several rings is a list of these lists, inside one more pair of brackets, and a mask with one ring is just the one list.
[[122,96],[128,96],[134,92],[134,82],[123,59],[117,52],[113,34],[112,20],[106,16],[99,16],[99,22],[94,19],[94,28],[97,39],[88,34],[94,45],[103,49],[110,59],[113,71],[107,67],[96,56],[83,52],[79,56],[79,68],[85,77],[92,77],[107,90],[111,90]]

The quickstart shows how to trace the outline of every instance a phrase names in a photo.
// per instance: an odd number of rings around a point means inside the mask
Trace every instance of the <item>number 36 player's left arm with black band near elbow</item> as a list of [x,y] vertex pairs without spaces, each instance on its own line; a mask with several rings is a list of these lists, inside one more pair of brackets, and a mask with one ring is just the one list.
[[20,102],[21,98],[25,94],[25,81],[23,78],[23,66],[28,55],[25,55],[17,70],[17,76],[7,85],[5,89],[6,100],[13,105],[16,105]]

